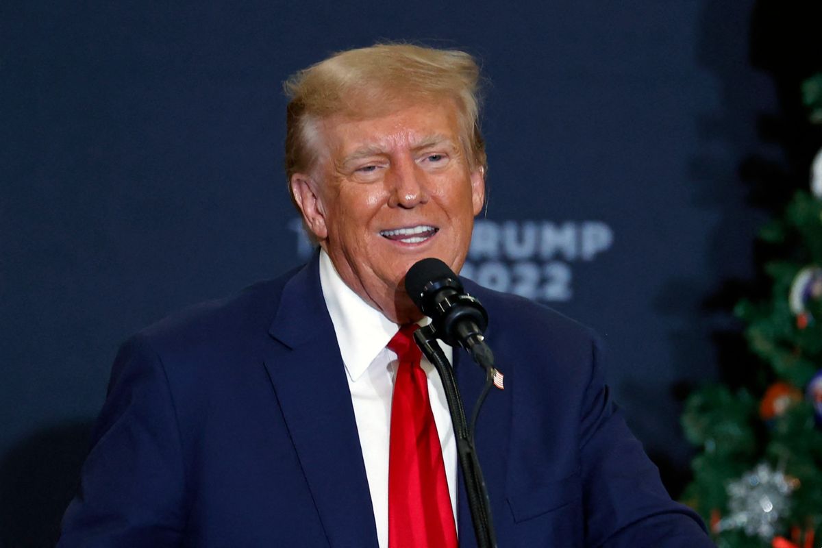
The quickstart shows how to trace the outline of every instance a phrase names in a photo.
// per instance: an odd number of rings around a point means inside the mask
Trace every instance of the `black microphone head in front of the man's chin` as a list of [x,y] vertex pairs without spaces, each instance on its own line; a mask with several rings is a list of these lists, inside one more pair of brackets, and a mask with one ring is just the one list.
[[405,291],[431,318],[437,338],[452,347],[465,348],[483,367],[494,366],[491,348],[483,342],[488,313],[465,292],[448,265],[434,258],[418,260],[405,274]]

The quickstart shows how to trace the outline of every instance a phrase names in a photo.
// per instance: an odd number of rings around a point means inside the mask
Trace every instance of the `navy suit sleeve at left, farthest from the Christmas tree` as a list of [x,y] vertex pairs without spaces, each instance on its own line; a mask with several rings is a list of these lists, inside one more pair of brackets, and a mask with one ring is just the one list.
[[123,344],[58,548],[179,546],[184,469],[173,396],[145,338]]

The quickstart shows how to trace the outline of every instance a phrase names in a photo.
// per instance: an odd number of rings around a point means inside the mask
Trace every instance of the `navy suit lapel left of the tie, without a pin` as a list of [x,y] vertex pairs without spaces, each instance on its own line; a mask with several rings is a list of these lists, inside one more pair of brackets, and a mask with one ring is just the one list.
[[330,546],[373,546],[376,527],[351,393],[317,256],[286,283],[266,369]]

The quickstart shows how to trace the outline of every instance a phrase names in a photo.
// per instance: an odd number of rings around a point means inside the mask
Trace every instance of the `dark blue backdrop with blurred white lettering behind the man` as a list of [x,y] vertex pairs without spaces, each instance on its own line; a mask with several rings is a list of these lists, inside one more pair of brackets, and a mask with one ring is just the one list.
[[760,223],[737,177],[769,154],[755,121],[774,104],[747,61],[754,2],[516,3],[4,7],[8,546],[53,534],[118,343],[300,261],[280,82],[377,39],[481,59],[490,202],[473,275],[603,334],[617,398],[676,483],[689,449],[672,386],[716,375],[709,335],[730,320],[702,305],[750,275]]

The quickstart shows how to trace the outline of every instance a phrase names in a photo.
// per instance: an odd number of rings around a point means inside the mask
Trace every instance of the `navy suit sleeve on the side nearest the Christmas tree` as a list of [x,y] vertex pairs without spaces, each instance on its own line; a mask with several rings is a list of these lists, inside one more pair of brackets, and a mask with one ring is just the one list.
[[700,517],[667,494],[657,467],[612,402],[599,343],[592,347],[592,375],[580,418],[586,546],[714,546]]

